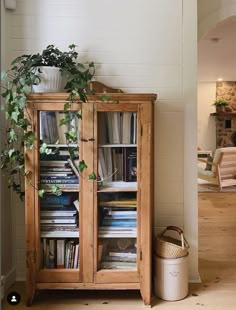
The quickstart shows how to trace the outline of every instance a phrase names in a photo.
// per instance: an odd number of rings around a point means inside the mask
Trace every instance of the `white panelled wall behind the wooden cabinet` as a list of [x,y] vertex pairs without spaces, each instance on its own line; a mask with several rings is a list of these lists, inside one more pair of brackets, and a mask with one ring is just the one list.
[[[78,45],[96,79],[126,92],[158,93],[155,229],[184,226],[190,279],[198,279],[196,0],[17,0],[8,13],[9,60],[47,44]],[[189,167],[191,166],[191,171]],[[24,212],[14,202],[17,276],[24,277]]]

